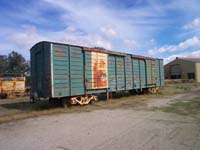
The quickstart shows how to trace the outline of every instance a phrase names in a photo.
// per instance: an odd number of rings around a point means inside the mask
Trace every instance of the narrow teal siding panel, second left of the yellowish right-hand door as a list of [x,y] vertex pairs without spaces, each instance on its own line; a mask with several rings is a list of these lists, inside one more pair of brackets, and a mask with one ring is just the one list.
[[139,67],[139,60],[138,59],[132,59],[133,61],[133,83],[134,83],[134,89],[140,88],[140,67]]

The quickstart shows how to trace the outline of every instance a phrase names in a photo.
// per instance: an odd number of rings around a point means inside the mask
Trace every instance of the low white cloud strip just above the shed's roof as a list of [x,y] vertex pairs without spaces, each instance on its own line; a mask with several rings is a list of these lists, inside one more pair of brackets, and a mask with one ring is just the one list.
[[180,53],[171,55],[164,59],[164,64],[167,64],[174,60],[176,57],[183,57],[183,58],[200,58],[200,50],[192,51],[190,53]]

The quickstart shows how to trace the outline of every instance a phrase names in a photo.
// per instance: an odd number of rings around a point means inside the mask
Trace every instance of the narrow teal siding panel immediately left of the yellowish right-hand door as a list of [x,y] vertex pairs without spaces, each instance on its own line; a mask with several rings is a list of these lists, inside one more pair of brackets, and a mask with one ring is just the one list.
[[139,60],[140,63],[140,86],[146,88],[146,67],[145,60]]

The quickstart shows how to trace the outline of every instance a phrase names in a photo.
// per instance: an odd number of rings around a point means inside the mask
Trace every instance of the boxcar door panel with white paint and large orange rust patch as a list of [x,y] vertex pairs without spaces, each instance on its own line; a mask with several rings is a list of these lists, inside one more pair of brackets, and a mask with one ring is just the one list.
[[86,94],[103,93],[108,88],[108,56],[84,51]]

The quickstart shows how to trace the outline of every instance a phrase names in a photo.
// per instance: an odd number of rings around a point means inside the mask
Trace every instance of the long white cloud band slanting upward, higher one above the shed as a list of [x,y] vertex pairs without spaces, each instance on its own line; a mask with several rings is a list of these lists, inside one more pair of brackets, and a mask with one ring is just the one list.
[[165,53],[165,52],[175,52],[175,51],[181,51],[186,50],[188,48],[196,48],[200,47],[200,39],[196,36],[185,40],[184,42],[179,43],[178,45],[165,45],[160,48],[154,48],[149,50],[149,54],[155,55],[158,53]]

